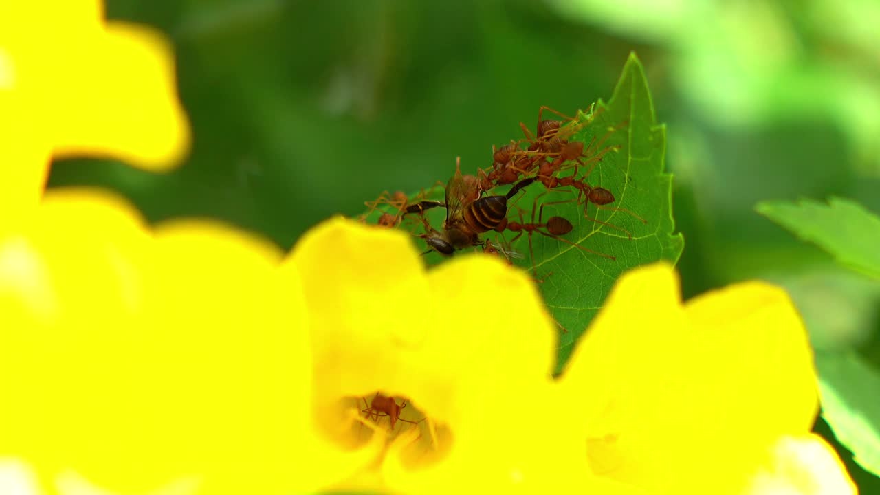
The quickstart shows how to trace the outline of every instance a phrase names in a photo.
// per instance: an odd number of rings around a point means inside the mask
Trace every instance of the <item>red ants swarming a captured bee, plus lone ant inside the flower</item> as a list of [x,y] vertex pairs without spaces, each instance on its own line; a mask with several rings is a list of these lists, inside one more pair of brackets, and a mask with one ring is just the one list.
[[[590,124],[598,115],[590,108],[580,122],[578,119],[563,115],[550,107],[540,107],[538,111],[538,124],[534,134],[522,122],[520,127],[523,129],[524,138],[519,140],[511,140],[510,144],[505,144],[500,148],[492,147],[493,163],[491,167],[480,169],[477,175],[461,174],[460,163],[456,160],[456,171],[451,180],[445,185],[445,201],[433,201],[425,199],[429,193],[422,191],[416,200],[411,202],[409,197],[403,192],[389,194],[387,191],[382,193],[375,201],[365,203],[368,207],[361,220],[366,223],[367,218],[374,211],[377,211],[381,205],[388,205],[393,212],[386,209],[379,218],[378,225],[384,227],[396,227],[400,225],[407,215],[417,215],[418,224],[423,226],[423,233],[414,233],[414,235],[425,240],[429,249],[424,254],[436,251],[441,255],[452,255],[455,251],[468,247],[482,247],[489,254],[502,255],[508,262],[510,257],[518,257],[518,254],[510,249],[510,245],[519,239],[523,233],[528,235],[529,251],[532,255],[532,270],[534,277],[538,278],[537,267],[534,264],[534,252],[532,249],[532,233],[539,233],[546,237],[561,240],[571,246],[582,249],[585,252],[599,255],[611,260],[615,257],[598,253],[587,247],[580,246],[575,242],[563,239],[561,236],[570,233],[573,225],[567,218],[554,216],[543,221],[544,206],[542,203],[538,205],[538,199],[544,196],[547,191],[552,190],[568,190],[576,192],[577,196],[574,201],[578,205],[583,204],[584,218],[601,225],[607,225],[613,229],[618,229],[627,234],[629,238],[632,235],[624,228],[611,225],[598,218],[590,218],[588,208],[594,204],[600,209],[609,209],[614,211],[622,211],[638,219],[643,224],[647,221],[634,213],[620,207],[608,207],[606,205],[613,203],[615,197],[612,192],[606,188],[591,186],[587,182],[587,178],[593,171],[595,166],[610,151],[618,151],[619,146],[604,146],[605,141],[611,136],[612,132],[620,127],[627,125],[627,122],[621,123],[617,128],[609,128],[602,137],[593,137],[589,144],[583,141],[571,139],[575,134],[583,129],[585,125]],[[544,119],[545,111],[552,112],[561,117],[562,120]],[[582,171],[584,171],[582,174]],[[573,173],[568,174],[568,172]],[[532,207],[531,222],[525,222],[522,209],[519,210],[519,221],[511,221],[507,218],[509,210],[509,202],[517,196],[524,188],[531,186],[535,182],[543,184],[546,192],[535,198]],[[493,189],[500,186],[511,185],[512,187],[504,194],[489,194]],[[568,189],[565,189],[568,188]],[[554,202],[569,203],[572,200]],[[433,208],[445,208],[446,219],[440,230],[430,225],[429,219],[425,216],[425,211]],[[538,211],[538,218],[535,218],[535,211]],[[416,226],[418,224],[415,224]],[[503,236],[504,231],[516,233],[516,236],[510,242],[481,240],[480,234],[495,231]],[[511,263],[512,264],[512,263]],[[363,410],[361,413],[366,419],[370,419],[375,423],[383,417],[389,417],[391,428],[398,421],[418,425],[420,421],[409,421],[400,417],[400,410],[406,407],[406,401],[397,403],[396,400],[381,392],[377,393],[370,403],[363,398]]]

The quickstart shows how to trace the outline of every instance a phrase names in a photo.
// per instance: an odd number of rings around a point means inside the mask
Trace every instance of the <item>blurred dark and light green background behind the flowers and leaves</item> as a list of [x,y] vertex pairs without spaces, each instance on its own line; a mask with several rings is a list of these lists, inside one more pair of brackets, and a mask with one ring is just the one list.
[[[194,128],[185,166],[154,175],[68,160],[51,186],[121,191],[150,218],[223,218],[290,247],[383,190],[491,165],[540,105],[574,115],[644,63],[686,247],[685,296],[784,284],[821,350],[880,369],[876,281],[754,213],[846,196],[880,211],[876,0],[107,0],[155,26]],[[878,247],[880,248],[880,247]],[[831,436],[824,424],[820,431]],[[865,493],[880,484],[849,461]]]

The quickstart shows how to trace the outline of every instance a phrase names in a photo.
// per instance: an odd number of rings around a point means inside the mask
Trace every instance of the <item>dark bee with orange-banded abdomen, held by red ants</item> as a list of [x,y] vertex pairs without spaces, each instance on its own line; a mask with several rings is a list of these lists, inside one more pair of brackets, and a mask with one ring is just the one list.
[[[470,178],[470,180],[468,180]],[[441,255],[452,255],[457,249],[483,246],[480,233],[490,230],[502,232],[507,226],[507,202],[536,179],[530,177],[518,181],[507,194],[480,197],[478,181],[473,176],[461,174],[460,162],[456,160],[455,174],[446,185],[446,201],[422,201],[407,207],[407,213],[418,213],[438,206],[446,208],[443,231],[438,232],[422,216],[425,233],[422,238]],[[430,250],[428,251],[430,252]]]

